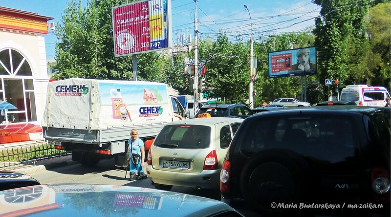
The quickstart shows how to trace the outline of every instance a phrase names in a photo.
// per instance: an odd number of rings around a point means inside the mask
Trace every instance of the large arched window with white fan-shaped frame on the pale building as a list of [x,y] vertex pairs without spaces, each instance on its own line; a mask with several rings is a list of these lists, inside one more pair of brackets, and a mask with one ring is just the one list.
[[17,109],[1,109],[1,123],[37,121],[31,67],[18,51],[0,50],[0,100]]

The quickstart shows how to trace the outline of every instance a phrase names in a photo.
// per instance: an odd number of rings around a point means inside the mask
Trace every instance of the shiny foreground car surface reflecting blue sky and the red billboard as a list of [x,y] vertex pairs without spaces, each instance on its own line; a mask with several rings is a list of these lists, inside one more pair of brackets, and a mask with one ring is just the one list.
[[37,185],[0,192],[0,216],[213,216],[234,211],[213,199],[128,186]]

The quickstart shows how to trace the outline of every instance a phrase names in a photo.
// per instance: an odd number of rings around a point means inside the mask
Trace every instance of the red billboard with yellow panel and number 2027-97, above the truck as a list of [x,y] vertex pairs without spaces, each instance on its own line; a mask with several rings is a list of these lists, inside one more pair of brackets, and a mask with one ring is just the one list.
[[114,56],[170,49],[171,0],[146,0],[112,8]]

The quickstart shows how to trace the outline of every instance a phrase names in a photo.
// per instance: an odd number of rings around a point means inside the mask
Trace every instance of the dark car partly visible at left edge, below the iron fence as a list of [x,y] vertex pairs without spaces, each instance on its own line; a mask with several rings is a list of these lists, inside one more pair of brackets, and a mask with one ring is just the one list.
[[0,170],[0,191],[40,184],[29,175],[11,170]]

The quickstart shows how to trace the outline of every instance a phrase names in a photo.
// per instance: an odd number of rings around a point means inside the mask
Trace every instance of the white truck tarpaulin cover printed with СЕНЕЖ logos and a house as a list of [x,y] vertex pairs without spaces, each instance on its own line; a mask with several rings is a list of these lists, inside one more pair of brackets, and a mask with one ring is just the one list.
[[171,122],[167,86],[70,78],[50,82],[43,127],[103,130]]

